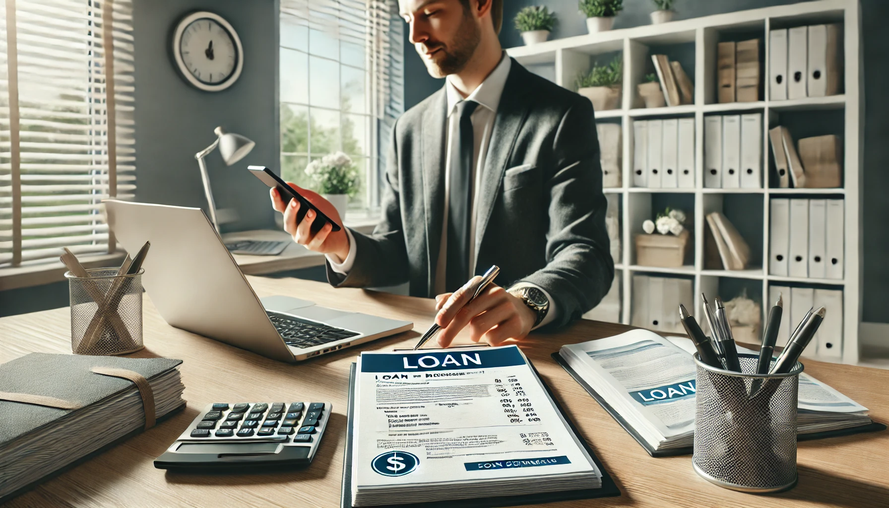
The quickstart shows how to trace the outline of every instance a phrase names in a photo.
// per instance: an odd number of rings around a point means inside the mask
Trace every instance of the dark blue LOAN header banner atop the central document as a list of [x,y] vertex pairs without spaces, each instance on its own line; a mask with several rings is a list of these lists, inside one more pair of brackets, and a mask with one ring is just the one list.
[[423,372],[525,365],[517,346],[485,350],[362,353],[361,372]]

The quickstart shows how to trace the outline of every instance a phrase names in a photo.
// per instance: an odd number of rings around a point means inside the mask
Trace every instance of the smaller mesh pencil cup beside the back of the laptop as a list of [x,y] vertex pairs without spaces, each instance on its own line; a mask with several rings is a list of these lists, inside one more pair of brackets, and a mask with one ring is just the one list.
[[71,351],[82,355],[119,355],[139,351],[142,344],[142,273],[117,275],[116,268],[86,270],[89,278],[70,271]]

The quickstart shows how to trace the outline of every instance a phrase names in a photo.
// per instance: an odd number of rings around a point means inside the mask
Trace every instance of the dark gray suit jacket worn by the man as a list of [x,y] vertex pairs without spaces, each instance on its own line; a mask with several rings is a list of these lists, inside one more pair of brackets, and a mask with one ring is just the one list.
[[[445,208],[444,87],[398,118],[388,156],[382,218],[352,231],[348,276],[333,286],[396,286],[434,296]],[[614,278],[596,120],[589,100],[512,61],[478,189],[476,273],[500,266],[497,284],[546,289],[559,327],[592,309]]]

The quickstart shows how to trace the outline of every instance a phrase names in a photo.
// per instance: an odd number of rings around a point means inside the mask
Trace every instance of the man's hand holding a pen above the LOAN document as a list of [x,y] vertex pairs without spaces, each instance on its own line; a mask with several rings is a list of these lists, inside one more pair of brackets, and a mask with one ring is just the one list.
[[[523,339],[531,331],[537,315],[521,299],[506,292],[501,286],[490,285],[469,302],[468,286],[479,276],[472,278],[455,293],[436,296],[436,324],[442,327],[438,345],[446,348],[454,337],[469,325],[469,337],[477,343],[499,346],[509,339]],[[469,303],[467,303],[469,302]]]

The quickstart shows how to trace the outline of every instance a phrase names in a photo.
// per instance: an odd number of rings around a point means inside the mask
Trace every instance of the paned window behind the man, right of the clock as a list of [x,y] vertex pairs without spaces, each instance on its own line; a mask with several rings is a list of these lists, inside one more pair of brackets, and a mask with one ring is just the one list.
[[379,206],[388,135],[404,110],[396,0],[281,0],[281,174],[312,187],[310,160],[342,150],[362,175],[351,208]]

